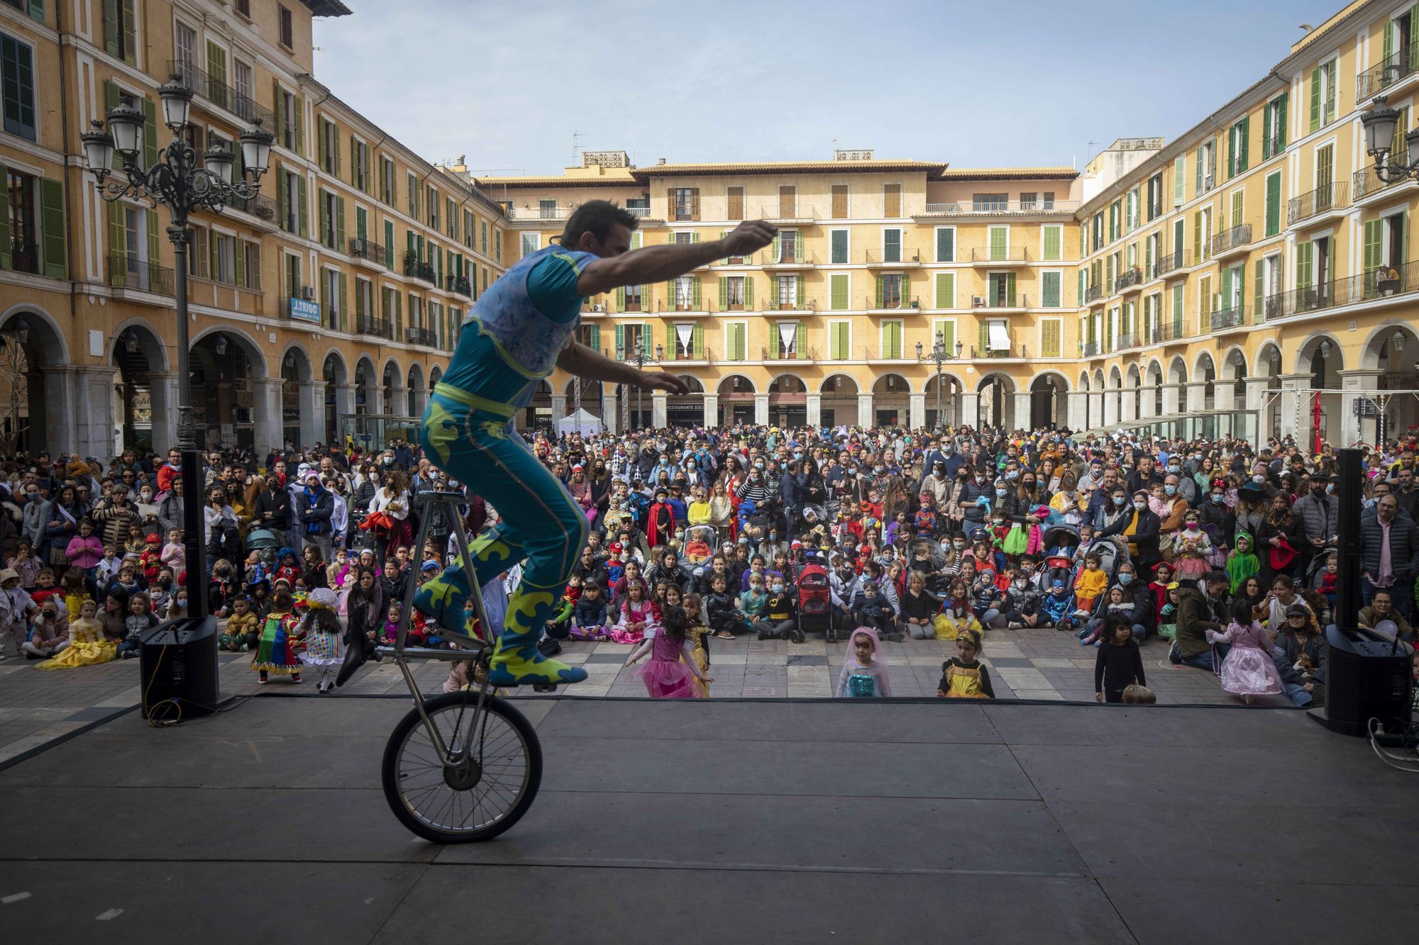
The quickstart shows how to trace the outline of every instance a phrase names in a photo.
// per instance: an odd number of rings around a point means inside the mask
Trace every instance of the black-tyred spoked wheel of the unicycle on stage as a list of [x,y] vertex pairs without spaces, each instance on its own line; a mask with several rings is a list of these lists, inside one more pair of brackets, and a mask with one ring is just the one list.
[[443,763],[419,708],[394,726],[385,746],[385,799],[409,830],[433,843],[490,840],[532,806],[542,783],[536,731],[511,702],[484,697],[473,728],[478,692],[446,692],[424,711],[450,753]]

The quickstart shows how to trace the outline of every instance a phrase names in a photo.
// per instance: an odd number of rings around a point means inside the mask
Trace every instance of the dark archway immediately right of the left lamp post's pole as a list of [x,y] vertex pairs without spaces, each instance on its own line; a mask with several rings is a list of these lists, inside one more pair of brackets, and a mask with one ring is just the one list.
[[[190,360],[192,421],[197,429],[197,447],[254,451],[260,416],[254,382],[270,377],[261,349],[244,332],[219,328],[197,338]],[[265,387],[261,396],[270,396]],[[280,430],[268,429],[265,434],[280,437]]]

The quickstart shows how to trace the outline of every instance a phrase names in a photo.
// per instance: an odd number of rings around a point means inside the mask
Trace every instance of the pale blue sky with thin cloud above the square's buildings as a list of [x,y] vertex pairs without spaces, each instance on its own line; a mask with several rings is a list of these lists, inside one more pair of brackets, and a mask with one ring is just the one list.
[[349,6],[316,20],[322,82],[427,160],[535,175],[570,163],[573,132],[637,165],[837,146],[1081,167],[1114,138],[1186,131],[1342,0]]

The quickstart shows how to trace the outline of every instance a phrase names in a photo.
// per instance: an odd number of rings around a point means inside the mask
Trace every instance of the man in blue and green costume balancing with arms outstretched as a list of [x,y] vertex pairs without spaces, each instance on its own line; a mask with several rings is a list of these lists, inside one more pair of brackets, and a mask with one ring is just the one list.
[[[772,243],[778,231],[768,223],[746,221],[722,240],[630,251],[636,226],[634,216],[607,200],[578,207],[558,244],[524,257],[474,304],[424,411],[424,455],[467,482],[501,516],[468,548],[478,582],[526,559],[491,658],[494,687],[586,678],[580,667],[549,660],[536,648],[586,545],[586,515],[514,430],[512,417],[553,368],[587,380],[688,390],[674,375],[639,370],[579,343],[576,329],[586,297],[673,280],[727,255],[749,255]],[[414,606],[440,626],[446,640],[477,648],[464,613],[470,592],[457,558],[419,589]],[[365,650],[355,650],[360,654],[356,664],[362,663]]]

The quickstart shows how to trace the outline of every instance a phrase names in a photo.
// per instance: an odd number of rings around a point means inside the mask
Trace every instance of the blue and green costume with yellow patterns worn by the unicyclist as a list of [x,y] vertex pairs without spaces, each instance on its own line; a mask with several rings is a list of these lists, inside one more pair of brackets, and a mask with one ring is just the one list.
[[[468,546],[484,583],[524,558],[522,580],[492,656],[491,684],[580,682],[586,671],[543,657],[536,643],[586,545],[587,522],[566,488],[512,429],[512,417],[576,338],[576,282],[592,253],[548,247],[494,282],[463,322],[463,333],[424,413],[420,443],[438,468],[497,508],[501,521]],[[467,572],[454,560],[414,595],[444,636],[467,636]]]

